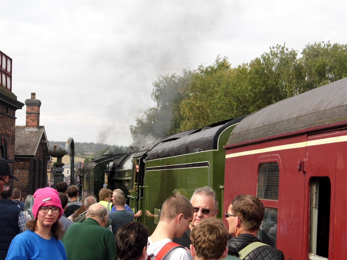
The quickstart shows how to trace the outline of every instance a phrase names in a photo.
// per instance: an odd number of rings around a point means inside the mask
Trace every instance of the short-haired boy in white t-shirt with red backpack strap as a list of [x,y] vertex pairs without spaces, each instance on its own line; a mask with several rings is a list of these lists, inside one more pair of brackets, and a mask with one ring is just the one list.
[[[156,255],[160,249],[172,242],[174,237],[181,237],[193,220],[192,203],[183,195],[176,194],[169,197],[163,204],[158,226],[148,238],[150,245],[147,255]],[[172,249],[163,260],[191,260],[192,255],[184,248]]]

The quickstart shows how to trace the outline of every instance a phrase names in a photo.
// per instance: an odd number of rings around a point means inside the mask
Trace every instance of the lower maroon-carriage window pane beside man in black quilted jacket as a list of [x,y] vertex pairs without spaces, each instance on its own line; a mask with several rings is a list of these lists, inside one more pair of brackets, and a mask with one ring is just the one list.
[[265,208],[265,215],[257,237],[265,244],[276,247],[277,209]]

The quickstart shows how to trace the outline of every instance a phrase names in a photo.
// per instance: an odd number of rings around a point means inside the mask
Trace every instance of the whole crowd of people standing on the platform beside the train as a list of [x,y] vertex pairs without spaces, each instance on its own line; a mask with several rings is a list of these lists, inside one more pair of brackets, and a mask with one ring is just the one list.
[[[251,195],[232,200],[225,213],[229,229],[217,218],[218,201],[210,187],[167,198],[152,234],[134,218],[119,189],[103,188],[100,201],[61,182],[28,195],[9,185],[8,163],[0,158],[0,260],[284,260],[282,251],[262,243],[257,232],[262,202]],[[68,202],[70,200],[70,202]]]

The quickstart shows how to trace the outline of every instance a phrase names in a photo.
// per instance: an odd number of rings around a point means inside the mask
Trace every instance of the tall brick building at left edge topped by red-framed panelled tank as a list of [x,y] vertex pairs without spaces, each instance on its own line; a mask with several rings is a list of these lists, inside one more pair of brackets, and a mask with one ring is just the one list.
[[[12,59],[0,51],[0,156],[14,171],[16,110],[24,104],[12,93]],[[15,173],[15,175],[17,175]],[[17,187],[17,181],[10,179]]]

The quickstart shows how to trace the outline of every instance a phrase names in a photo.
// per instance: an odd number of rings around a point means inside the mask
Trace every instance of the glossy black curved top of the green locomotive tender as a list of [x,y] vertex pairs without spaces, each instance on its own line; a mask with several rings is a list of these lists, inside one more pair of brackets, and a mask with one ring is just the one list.
[[175,135],[164,138],[148,152],[148,160],[215,150],[218,148],[220,134],[243,118],[245,116],[185,131],[179,138]]

